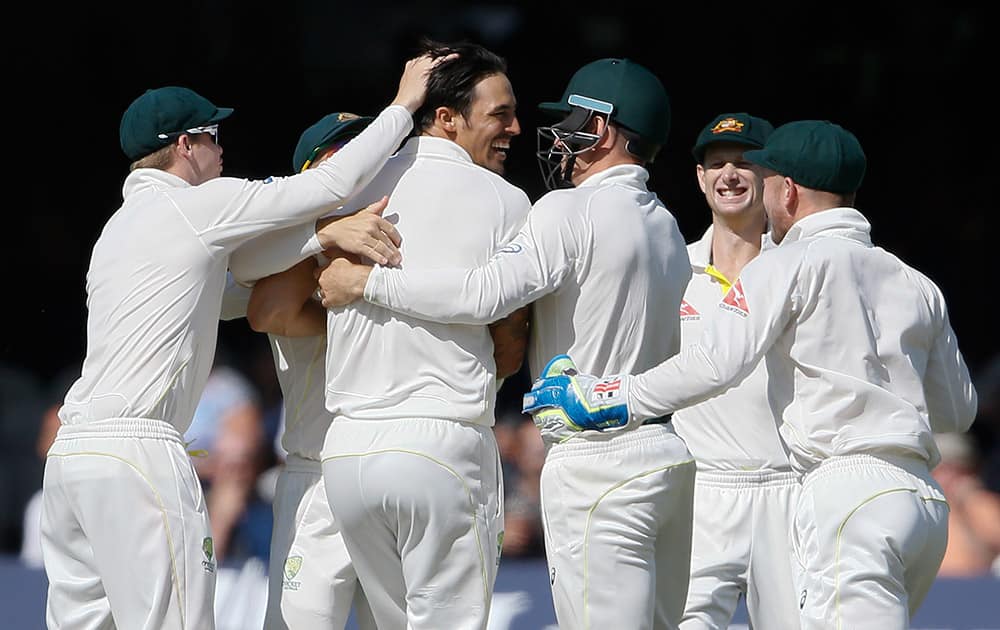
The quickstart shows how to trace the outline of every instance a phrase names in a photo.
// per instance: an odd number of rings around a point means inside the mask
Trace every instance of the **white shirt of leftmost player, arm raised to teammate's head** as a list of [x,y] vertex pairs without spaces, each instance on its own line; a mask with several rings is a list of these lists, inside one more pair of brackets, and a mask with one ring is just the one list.
[[[229,254],[268,230],[313,221],[363,186],[412,128],[386,108],[336,155],[305,173],[200,186],[157,169],[125,179],[87,272],[87,355],[59,415],[77,424],[154,418],[184,433],[215,354]],[[311,249],[310,249],[311,248]]]

